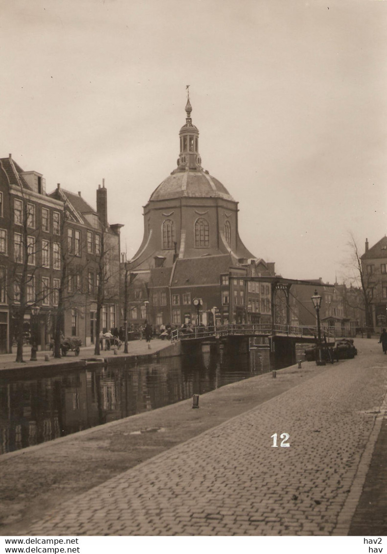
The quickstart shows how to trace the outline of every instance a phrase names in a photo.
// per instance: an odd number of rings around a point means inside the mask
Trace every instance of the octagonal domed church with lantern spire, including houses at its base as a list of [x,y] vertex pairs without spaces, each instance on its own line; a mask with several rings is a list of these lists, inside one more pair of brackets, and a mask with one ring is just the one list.
[[[270,292],[246,276],[274,275],[274,263],[255,257],[238,233],[238,202],[202,167],[199,131],[189,96],[179,132],[177,167],[144,207],[142,244],[122,261],[128,322],[154,326],[192,322],[266,322]],[[122,288],[123,289],[123,288]],[[194,299],[200,299],[199,306]]]

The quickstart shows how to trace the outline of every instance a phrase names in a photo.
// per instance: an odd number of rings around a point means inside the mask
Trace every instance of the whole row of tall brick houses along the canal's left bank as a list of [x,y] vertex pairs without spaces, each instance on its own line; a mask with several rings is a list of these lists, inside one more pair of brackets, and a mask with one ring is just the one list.
[[[0,159],[0,352],[11,352],[24,314],[25,340],[46,349],[56,317],[65,336],[95,342],[101,263],[106,284],[101,327],[118,325],[120,228],[107,221],[107,190],[97,209],[78,192],[47,193],[42,173]],[[102,259],[103,258],[103,259]],[[58,314],[59,296],[64,310]]]

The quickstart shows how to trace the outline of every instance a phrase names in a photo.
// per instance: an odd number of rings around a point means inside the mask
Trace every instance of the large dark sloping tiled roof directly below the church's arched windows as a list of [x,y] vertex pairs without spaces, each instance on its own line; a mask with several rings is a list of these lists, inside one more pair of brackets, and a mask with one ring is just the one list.
[[178,259],[173,274],[173,286],[219,285],[219,276],[234,266],[230,254],[203,258]]

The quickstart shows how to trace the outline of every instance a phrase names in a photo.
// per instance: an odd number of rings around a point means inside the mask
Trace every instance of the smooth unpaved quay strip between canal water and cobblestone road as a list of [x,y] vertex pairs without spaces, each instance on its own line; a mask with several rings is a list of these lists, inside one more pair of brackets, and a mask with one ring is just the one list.
[[199,409],[188,399],[0,456],[2,534],[24,534],[62,502],[331,368],[303,362],[203,394]]

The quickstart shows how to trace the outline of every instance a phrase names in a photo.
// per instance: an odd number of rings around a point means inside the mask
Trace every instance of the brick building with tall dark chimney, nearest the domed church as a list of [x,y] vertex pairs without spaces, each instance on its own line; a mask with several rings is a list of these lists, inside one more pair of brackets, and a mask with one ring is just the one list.
[[[94,209],[81,196],[58,184],[49,195],[64,204],[64,248],[69,270],[66,284],[64,329],[66,336],[79,336],[84,345],[95,343],[96,293],[99,264],[105,267],[105,302],[101,313],[101,330],[120,326],[120,228],[107,221],[107,189],[97,188]],[[101,260],[101,257],[104,259]]]

